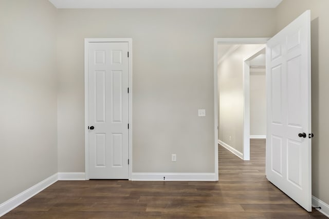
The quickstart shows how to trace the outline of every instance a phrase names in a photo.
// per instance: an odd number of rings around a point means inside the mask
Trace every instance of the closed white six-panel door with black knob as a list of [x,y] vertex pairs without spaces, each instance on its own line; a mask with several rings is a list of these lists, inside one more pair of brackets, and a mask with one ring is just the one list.
[[89,178],[129,178],[127,42],[89,43]]

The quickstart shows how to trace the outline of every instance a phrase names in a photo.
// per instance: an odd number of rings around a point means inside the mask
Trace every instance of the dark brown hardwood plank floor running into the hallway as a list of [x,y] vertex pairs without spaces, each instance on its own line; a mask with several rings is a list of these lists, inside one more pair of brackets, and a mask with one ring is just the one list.
[[327,218],[265,178],[265,141],[251,161],[219,147],[219,182],[58,181],[3,218]]

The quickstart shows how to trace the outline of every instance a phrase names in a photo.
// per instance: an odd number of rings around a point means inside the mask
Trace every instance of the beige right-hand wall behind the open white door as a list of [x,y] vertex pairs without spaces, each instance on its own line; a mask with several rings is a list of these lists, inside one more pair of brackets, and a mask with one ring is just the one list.
[[277,31],[281,30],[305,10],[311,10],[312,47],[312,193],[329,203],[329,1],[283,0],[276,9]]

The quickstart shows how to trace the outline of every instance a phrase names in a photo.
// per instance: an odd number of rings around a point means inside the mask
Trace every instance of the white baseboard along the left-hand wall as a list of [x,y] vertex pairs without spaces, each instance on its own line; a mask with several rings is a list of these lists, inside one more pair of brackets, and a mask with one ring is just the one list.
[[58,181],[58,173],[53,174],[52,176],[46,178],[42,182],[35,184],[34,186],[28,188],[27,190],[21,192],[20,194],[10,198],[10,200],[0,204],[0,217],[8,213],[12,209],[21,205],[22,203],[29,200],[29,198],[38,194],[48,186],[56,183]]

